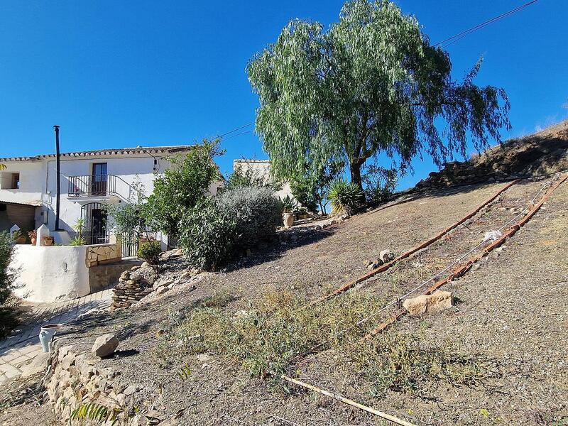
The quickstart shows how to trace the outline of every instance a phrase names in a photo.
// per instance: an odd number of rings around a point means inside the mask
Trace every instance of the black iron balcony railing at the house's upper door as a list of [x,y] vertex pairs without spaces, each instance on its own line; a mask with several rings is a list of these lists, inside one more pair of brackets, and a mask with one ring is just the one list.
[[119,197],[129,200],[132,187],[122,178],[116,175],[82,175],[68,176],[69,197],[93,197],[107,198]]

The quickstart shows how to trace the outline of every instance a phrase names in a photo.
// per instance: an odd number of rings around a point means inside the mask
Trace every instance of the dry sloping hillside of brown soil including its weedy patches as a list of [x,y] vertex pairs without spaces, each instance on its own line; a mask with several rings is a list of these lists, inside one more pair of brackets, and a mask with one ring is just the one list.
[[[568,122],[509,141],[448,165],[422,184],[428,191],[323,229],[312,222],[282,231],[280,244],[219,273],[182,278],[187,264],[172,258],[161,273],[179,278],[173,290],[69,324],[65,342],[88,352],[100,334],[119,337],[116,356],[92,361],[112,371],[96,386],[127,393],[121,401],[139,425],[388,424],[265,374],[277,368],[414,425],[566,425],[568,181],[503,246],[441,288],[454,297],[447,310],[402,317],[362,339],[487,231],[523,217],[557,176],[521,180],[388,271],[309,302],[368,273],[366,260],[381,250],[398,255],[452,225],[501,190],[501,178],[568,168],[567,148]],[[457,186],[469,182],[463,173],[477,182]],[[57,424],[46,420],[50,410],[28,402],[0,420]]]

